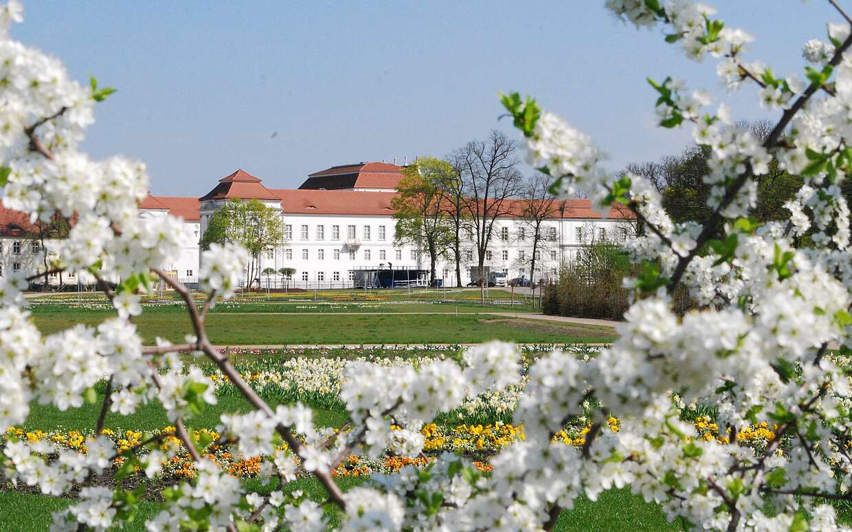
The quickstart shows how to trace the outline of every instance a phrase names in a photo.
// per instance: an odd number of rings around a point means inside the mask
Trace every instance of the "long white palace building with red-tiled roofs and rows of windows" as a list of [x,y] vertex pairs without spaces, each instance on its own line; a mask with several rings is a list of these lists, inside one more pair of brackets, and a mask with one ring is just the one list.
[[[394,240],[394,211],[391,199],[402,178],[402,167],[390,163],[357,163],[335,166],[308,175],[298,189],[268,188],[262,180],[237,170],[219,180],[204,196],[170,197],[149,194],[141,203],[144,218],[165,214],[180,217],[192,245],[183,249],[175,264],[167,265],[182,283],[198,283],[199,239],[216,209],[231,198],[256,199],[279,210],[284,219],[285,245],[268,249],[259,271],[272,268],[296,270],[291,286],[298,288],[344,288],[355,283],[363,270],[428,270],[429,256],[415,244]],[[521,212],[521,200],[513,212]],[[553,277],[563,264],[574,260],[582,245],[605,237],[624,242],[634,231],[633,220],[619,209],[606,218],[590,208],[587,199],[558,200],[556,212],[543,224],[535,280]],[[0,274],[23,270],[34,272],[43,262],[37,239],[26,216],[0,208]],[[509,278],[529,277],[532,253],[530,229],[520,215],[508,215],[494,226],[486,266],[504,271]],[[462,243],[462,283],[470,280],[469,267],[477,265],[473,238]],[[438,260],[436,277],[444,286],[456,285],[452,254]],[[51,283],[57,283],[55,276]],[[76,284],[73,277],[64,283]],[[280,287],[280,274],[260,276],[262,287]]]

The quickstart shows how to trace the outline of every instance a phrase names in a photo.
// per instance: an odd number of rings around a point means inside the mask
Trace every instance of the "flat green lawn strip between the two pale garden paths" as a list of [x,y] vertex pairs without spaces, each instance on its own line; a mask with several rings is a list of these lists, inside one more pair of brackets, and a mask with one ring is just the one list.
[[[44,334],[73,323],[96,325],[111,316],[105,311],[34,312]],[[186,314],[144,312],[135,318],[142,339],[153,344],[159,336],[182,342],[192,330]],[[407,315],[239,315],[207,317],[210,341],[220,345],[263,344],[437,344],[506,340],[535,343],[594,343],[613,340],[612,328],[574,323],[459,314]]]

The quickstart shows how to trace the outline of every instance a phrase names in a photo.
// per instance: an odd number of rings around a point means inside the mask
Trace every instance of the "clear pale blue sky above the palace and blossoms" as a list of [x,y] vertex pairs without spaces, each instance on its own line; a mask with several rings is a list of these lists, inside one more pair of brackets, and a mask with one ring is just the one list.
[[[757,37],[749,57],[785,75],[838,20],[822,0],[709,3]],[[141,158],[155,194],[199,196],[238,168],[295,187],[334,164],[445,155],[509,131],[499,90],[592,134],[613,169],[680,152],[689,132],[654,127],[645,77],[728,98],[715,62],[685,60],[602,4],[30,0],[13,35],[118,88],[85,149]],[[738,118],[768,117],[751,88],[728,102]]]

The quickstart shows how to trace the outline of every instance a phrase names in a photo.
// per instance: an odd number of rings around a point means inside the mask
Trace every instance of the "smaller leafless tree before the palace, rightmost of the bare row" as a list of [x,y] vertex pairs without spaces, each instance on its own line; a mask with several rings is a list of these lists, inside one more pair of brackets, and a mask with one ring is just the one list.
[[[554,178],[546,174],[535,174],[527,179],[521,190],[521,220],[520,227],[532,238],[532,251],[527,264],[530,268],[530,282],[535,279],[535,266],[538,255],[542,248],[548,247],[547,243],[556,241],[556,226],[545,227],[545,220],[553,218],[559,212],[560,202],[550,192]],[[545,232],[544,230],[548,231]],[[533,287],[533,295],[535,288]]]

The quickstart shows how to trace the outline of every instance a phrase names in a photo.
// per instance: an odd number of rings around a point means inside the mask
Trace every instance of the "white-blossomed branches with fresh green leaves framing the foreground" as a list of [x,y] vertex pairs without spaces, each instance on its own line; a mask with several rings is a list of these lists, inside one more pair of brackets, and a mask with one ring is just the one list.
[[[744,60],[751,36],[725,26],[707,6],[607,0],[630,24],[662,27],[665,41],[682,46],[688,57],[717,58],[729,89],[753,86],[761,105],[780,112],[774,129],[758,140],[732,126],[726,106],[708,110],[705,92],[688,93],[672,78],[651,82],[660,125],[691,125],[695,141],[711,149],[705,180],[712,186],[712,215],[703,226],[673,222],[648,181],[602,168],[602,152],[587,135],[531,98],[504,95],[527,140],[530,163],[554,176],[558,190],[584,192],[602,209],[623,203],[646,229],[631,244],[643,266],[625,281],[634,301],[620,338],[588,363],[553,352],[529,367],[514,411],[524,438],[489,460],[490,474],[445,453],[428,466],[404,465],[344,493],[332,474],[343,460],[353,453],[372,460],[389,448],[419,455],[427,443],[419,427],[440,412],[519,384],[519,352],[492,343],[469,349],[458,361],[417,367],[348,363],[340,399],[352,430],[336,435],[318,430],[301,403],[272,409],[204,329],[216,298],[233,295],[245,250],[226,245],[204,251],[206,299],[200,304],[163,272],[184,233],[170,216],[139,219],[137,203],[147,192],[144,166],[123,157],[93,161],[78,150],[95,102],[112,89],[94,79],[83,86],[59,60],[12,41],[9,23],[20,21],[21,9],[10,0],[0,10],[3,204],[32,220],[73,217],[68,237],[49,244],[59,259],[37,276],[89,272],[106,287],[116,317],[42,337],[23,310],[21,290],[33,277],[0,279],[0,431],[25,421],[32,401],[67,409],[91,400],[107,375],[107,396],[84,453],[57,451],[43,440],[9,441],[3,475],[46,493],[80,486],[78,501],[55,513],[52,530],[120,528],[135,515],[141,494],[121,483],[99,483],[101,472],[119,452],[128,470],[155,467],[158,441],[119,451],[101,429],[108,411],[130,413],[156,398],[195,465],[192,479],[164,491],[167,506],[147,523],[152,532],[242,532],[279,524],[320,530],[324,506],[343,512],[345,530],[552,529],[579,495],[594,500],[604,489],[626,485],[670,518],[705,529],[840,528],[826,501],[852,499],[852,390],[849,371],[826,352],[852,346],[849,206],[840,189],[852,170],[852,19],[828,1],[843,22],[829,24],[826,42],[806,43],[813,66],[800,79]],[[767,171],[771,157],[800,175],[804,186],[787,203],[790,220],[757,226],[748,217],[755,176]],[[797,246],[806,234],[808,246]],[[136,335],[130,318],[142,312],[140,294],[157,280],[186,303],[193,331],[184,344],[142,346]],[[706,307],[678,319],[670,305],[681,285]],[[275,455],[271,474],[282,483],[296,477],[296,467],[314,475],[328,495],[323,504],[298,494],[247,494],[237,478],[199,452],[183,419],[216,402],[216,384],[185,364],[179,351],[215,363],[255,408],[223,415],[224,438],[246,457]],[[682,420],[672,392],[687,403],[711,403],[714,419],[701,420],[701,427]],[[596,407],[587,413],[584,404]],[[613,413],[618,430],[609,421]],[[581,415],[590,421],[582,444],[565,444],[561,438],[579,438],[567,434],[566,423]],[[761,434],[758,416],[772,423],[771,439],[753,447],[725,442],[725,434],[739,435],[745,427]],[[607,425],[610,430],[602,430]],[[298,466],[274,453],[280,443],[298,457]],[[136,452],[142,449],[150,452]]]

